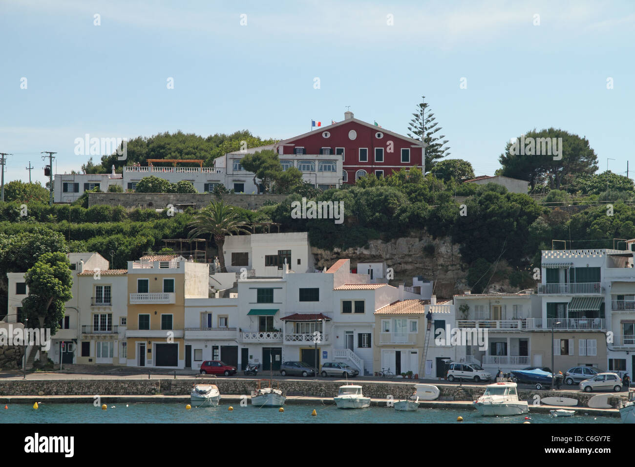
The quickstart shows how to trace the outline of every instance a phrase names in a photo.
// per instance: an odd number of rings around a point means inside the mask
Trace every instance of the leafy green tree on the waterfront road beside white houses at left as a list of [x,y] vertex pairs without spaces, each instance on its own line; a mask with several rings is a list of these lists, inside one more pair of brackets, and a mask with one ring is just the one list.
[[[54,335],[64,318],[65,302],[72,299],[70,263],[62,252],[45,253],[25,274],[29,295],[22,301],[22,313],[40,328],[49,328]],[[46,363],[46,351],[41,361]]]

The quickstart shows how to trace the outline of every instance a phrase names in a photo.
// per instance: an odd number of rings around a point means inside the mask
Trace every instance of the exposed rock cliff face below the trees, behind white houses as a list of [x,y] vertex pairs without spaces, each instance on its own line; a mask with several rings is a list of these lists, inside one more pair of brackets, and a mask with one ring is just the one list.
[[458,247],[449,237],[432,240],[431,236],[422,234],[391,241],[370,240],[361,248],[335,248],[332,252],[312,248],[312,254],[318,269],[328,268],[338,259],[350,259],[351,267],[357,267],[358,262],[385,261],[386,266],[394,269],[391,285],[397,286],[404,281],[406,285],[412,285],[413,276],[423,276],[425,280],[435,281],[437,297],[450,298],[469,289],[467,265],[463,263]]

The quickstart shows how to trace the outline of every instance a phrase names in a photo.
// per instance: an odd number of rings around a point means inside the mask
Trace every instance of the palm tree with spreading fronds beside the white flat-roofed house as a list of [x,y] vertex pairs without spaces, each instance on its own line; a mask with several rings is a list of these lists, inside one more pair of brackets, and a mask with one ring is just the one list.
[[213,238],[218,247],[220,270],[227,271],[223,255],[225,235],[250,233],[244,228],[246,225],[248,225],[247,222],[236,212],[234,206],[228,205],[224,201],[211,201],[210,205],[195,214],[194,220],[188,224],[188,227],[193,227],[188,237],[209,235],[210,238]]

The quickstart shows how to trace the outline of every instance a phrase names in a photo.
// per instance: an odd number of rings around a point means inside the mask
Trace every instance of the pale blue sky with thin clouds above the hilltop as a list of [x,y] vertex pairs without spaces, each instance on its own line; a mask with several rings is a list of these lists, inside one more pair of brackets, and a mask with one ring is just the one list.
[[601,170],[635,172],[634,39],[632,1],[2,0],[5,181],[28,180],[30,161],[44,182],[40,151],[79,170],[86,133],[287,138],[350,105],[406,134],[422,95],[476,175],[549,126],[587,137]]

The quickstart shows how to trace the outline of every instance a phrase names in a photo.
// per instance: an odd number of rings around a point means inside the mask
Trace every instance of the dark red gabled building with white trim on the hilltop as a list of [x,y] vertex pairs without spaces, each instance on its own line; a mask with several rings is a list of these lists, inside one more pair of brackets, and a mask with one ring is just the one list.
[[344,112],[344,120],[278,143],[285,154],[342,155],[342,182],[354,184],[368,173],[390,175],[402,167],[416,165],[425,172],[425,144]]

